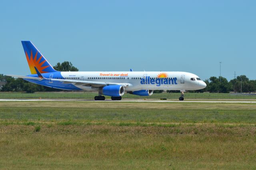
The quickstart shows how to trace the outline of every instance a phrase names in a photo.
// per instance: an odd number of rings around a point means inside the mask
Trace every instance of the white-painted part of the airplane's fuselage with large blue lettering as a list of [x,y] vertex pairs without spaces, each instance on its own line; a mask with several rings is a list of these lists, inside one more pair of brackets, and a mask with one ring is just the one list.
[[[137,90],[198,90],[206,87],[195,74],[182,71],[68,71],[64,79],[81,81],[128,83],[125,91]],[[54,77],[58,78],[58,77]],[[193,80],[192,80],[193,79]],[[83,90],[97,91],[95,87],[75,85]]]

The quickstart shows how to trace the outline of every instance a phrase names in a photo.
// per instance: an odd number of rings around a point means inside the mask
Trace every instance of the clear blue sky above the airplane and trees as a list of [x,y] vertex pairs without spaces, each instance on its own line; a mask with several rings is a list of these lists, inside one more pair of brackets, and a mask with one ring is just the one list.
[[28,75],[21,40],[79,71],[187,71],[256,79],[255,0],[8,0],[0,73]]

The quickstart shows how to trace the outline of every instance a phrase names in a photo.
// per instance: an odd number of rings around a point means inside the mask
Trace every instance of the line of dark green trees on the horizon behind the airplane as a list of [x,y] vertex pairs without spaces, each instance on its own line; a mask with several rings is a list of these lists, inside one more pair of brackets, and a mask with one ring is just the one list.
[[[64,61],[63,63],[57,63],[54,69],[58,71],[78,71],[78,68],[74,67],[71,62]],[[3,85],[1,91],[24,91],[27,93],[34,93],[35,91],[62,91],[59,89],[54,89],[51,87],[45,87],[42,85],[37,85],[30,83],[23,79],[14,79],[13,77],[4,76],[0,74],[0,81],[6,81]],[[256,80],[249,80],[246,75],[239,75],[235,79],[228,81],[225,77],[210,77],[204,81],[206,83],[206,88],[201,90],[192,90],[190,93],[230,93],[241,92],[250,93],[256,91]],[[162,93],[162,90],[154,90],[154,93]],[[180,91],[167,91],[168,93],[179,93]]]

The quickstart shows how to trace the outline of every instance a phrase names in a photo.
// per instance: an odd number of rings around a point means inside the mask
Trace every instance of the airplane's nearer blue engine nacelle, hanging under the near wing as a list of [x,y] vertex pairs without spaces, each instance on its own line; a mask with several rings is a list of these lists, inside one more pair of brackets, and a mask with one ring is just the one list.
[[122,96],[124,95],[124,86],[121,85],[107,85],[103,88],[99,89],[99,93],[101,95],[106,95],[106,96]]

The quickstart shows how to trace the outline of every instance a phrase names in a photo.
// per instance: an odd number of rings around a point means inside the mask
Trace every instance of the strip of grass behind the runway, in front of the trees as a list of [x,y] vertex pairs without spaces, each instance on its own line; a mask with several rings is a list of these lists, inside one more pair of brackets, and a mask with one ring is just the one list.
[[[0,99],[94,99],[96,92],[0,92]],[[123,99],[178,99],[180,93],[154,93],[151,96],[137,96],[125,93]],[[106,99],[110,97],[106,96]],[[185,93],[185,99],[256,99],[256,95],[241,95],[240,93]]]

